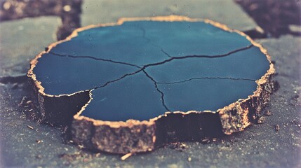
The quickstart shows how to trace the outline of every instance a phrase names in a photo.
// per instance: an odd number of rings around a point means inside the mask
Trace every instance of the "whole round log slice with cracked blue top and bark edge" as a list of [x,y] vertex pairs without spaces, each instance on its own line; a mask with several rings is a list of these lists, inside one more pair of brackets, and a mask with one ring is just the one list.
[[242,131],[269,101],[273,74],[246,34],[175,15],[76,29],[28,72],[41,120],[109,153]]

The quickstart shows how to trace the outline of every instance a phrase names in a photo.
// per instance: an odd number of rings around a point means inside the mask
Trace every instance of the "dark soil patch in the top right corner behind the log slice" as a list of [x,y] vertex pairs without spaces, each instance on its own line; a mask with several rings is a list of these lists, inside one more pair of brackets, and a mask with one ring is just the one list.
[[301,25],[301,1],[299,0],[234,0],[261,28],[244,31],[251,38],[267,38],[291,34],[301,36],[300,31],[292,31],[290,25]]

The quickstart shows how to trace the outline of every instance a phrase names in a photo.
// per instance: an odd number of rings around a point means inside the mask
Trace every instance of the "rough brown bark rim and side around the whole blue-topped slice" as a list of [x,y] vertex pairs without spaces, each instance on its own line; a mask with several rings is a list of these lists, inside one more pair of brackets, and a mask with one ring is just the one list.
[[[38,62],[39,57],[41,55],[49,52],[51,48],[55,47],[59,43],[63,43],[65,41],[69,41],[72,38],[76,37],[80,31],[84,31],[86,29],[91,29],[94,27],[107,27],[107,26],[116,26],[121,25],[123,22],[128,21],[139,21],[139,20],[150,20],[150,21],[162,21],[162,22],[174,22],[174,21],[187,21],[187,22],[206,22],[210,25],[223,29],[225,31],[234,32],[244,36],[250,43],[255,45],[255,47],[260,48],[260,50],[266,55],[269,61],[269,70],[265,73],[262,78],[256,80],[257,89],[253,92],[252,95],[248,96],[247,99],[240,99],[237,102],[229,104],[229,106],[225,106],[222,109],[218,109],[215,111],[177,111],[177,112],[166,112],[165,114],[158,116],[156,118],[152,118],[148,121],[139,121],[139,120],[127,120],[126,122],[111,122],[111,121],[102,121],[102,120],[94,120],[92,118],[87,118],[84,116],[80,116],[81,112],[88,106],[89,102],[91,102],[91,90],[90,90],[90,100],[86,105],[84,105],[81,110],[76,113],[74,119],[72,120],[71,132],[72,139],[76,144],[82,144],[86,148],[94,148],[100,151],[106,151],[109,153],[138,153],[138,152],[147,152],[152,151],[154,148],[161,146],[162,144],[168,143],[170,141],[177,140],[199,140],[203,137],[207,136],[217,136],[220,134],[220,130],[224,134],[232,134],[233,132],[239,132],[244,130],[244,128],[248,127],[260,114],[260,110],[267,104],[269,100],[269,95],[272,93],[272,76],[274,74],[274,64],[271,62],[271,57],[267,54],[267,50],[262,48],[262,45],[259,43],[255,43],[249,36],[244,34],[241,31],[229,29],[226,25],[222,25],[218,22],[213,22],[212,20],[203,20],[203,19],[192,19],[187,18],[185,16],[178,15],[170,15],[170,16],[159,16],[152,18],[121,18],[116,23],[107,23],[107,24],[99,24],[99,25],[90,25],[87,27],[81,27],[73,31],[73,33],[68,36],[65,40],[58,41],[53,43],[46,48],[46,51],[39,53],[31,62],[31,68],[29,69],[28,76],[31,83],[33,83],[35,90],[38,92],[38,97],[42,101],[39,101],[41,106],[41,111],[43,113],[48,113],[50,109],[45,109],[44,104],[48,101],[46,97],[53,97],[53,99],[60,99],[60,97],[72,97],[80,91],[73,94],[60,94],[60,95],[50,95],[44,92],[44,87],[42,87],[41,82],[36,80],[36,76],[33,73],[34,66]],[[86,96],[84,96],[86,97]],[[74,112],[74,111],[71,111]],[[183,128],[175,128],[170,123],[173,123],[170,118],[173,116],[182,116],[180,118],[180,122],[185,122],[185,118],[189,118],[189,116],[196,115],[195,118],[199,118],[203,116],[204,113],[211,113],[214,116],[218,115],[220,120],[215,120],[216,123],[214,125],[217,126],[216,134],[211,134],[208,131],[201,132],[199,137],[185,137],[183,132]],[[201,117],[202,118],[202,117]],[[45,118],[48,120],[48,118]],[[165,120],[164,120],[165,119]],[[190,119],[191,121],[192,119]],[[197,120],[201,119],[196,119]],[[203,125],[210,125],[206,123]],[[169,127],[169,128],[168,128]],[[161,128],[159,130],[159,128]],[[166,132],[162,132],[164,130]],[[201,128],[201,127],[200,127]],[[142,132],[141,130],[145,130]],[[164,134],[168,134],[168,132],[175,132],[175,136],[165,136]],[[213,131],[213,130],[212,130]],[[184,129],[185,132],[185,129]],[[214,132],[214,131],[213,131]],[[198,132],[196,132],[198,133]],[[178,137],[177,137],[178,136]],[[179,138],[180,137],[180,138]],[[183,137],[183,138],[182,138]],[[122,139],[122,141],[121,141]]]

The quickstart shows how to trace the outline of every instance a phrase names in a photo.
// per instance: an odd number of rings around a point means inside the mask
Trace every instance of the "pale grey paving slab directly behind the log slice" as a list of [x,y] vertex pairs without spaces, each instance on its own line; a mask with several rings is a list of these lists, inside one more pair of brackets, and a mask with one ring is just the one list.
[[256,27],[252,18],[249,18],[234,1],[87,0],[83,1],[82,10],[82,26],[116,22],[119,18],[185,15],[190,18],[214,20],[242,31]]

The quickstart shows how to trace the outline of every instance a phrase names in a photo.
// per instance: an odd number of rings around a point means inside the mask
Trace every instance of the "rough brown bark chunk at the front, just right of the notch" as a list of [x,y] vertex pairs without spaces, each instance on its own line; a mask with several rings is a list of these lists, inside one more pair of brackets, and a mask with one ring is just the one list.
[[109,153],[140,153],[154,150],[156,142],[154,121],[112,122],[80,116],[93,99],[92,91],[89,94],[89,102],[72,120],[71,136],[74,143]]

